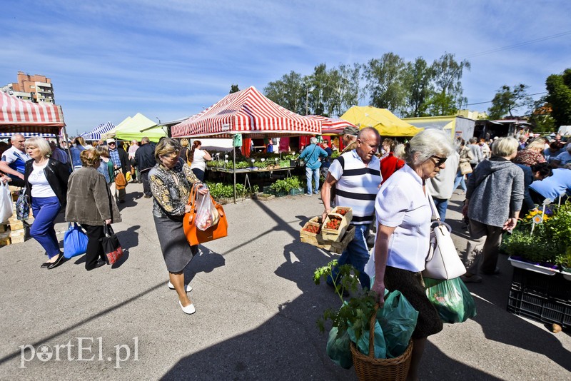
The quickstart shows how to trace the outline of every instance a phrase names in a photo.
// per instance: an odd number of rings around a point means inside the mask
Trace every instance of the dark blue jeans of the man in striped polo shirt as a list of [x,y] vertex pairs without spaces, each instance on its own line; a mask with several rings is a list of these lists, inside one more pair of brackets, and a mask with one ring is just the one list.
[[[337,265],[353,265],[353,267],[359,272],[359,282],[364,290],[370,288],[370,278],[369,275],[365,274],[365,265],[369,261],[369,249],[367,247],[367,238],[369,237],[369,225],[364,223],[362,225],[355,226],[355,238],[347,245],[347,248],[337,261]],[[328,285],[333,285],[333,280],[338,277],[339,269],[337,267],[333,268],[331,276],[327,278]],[[337,279],[337,284],[339,284],[340,279]]]

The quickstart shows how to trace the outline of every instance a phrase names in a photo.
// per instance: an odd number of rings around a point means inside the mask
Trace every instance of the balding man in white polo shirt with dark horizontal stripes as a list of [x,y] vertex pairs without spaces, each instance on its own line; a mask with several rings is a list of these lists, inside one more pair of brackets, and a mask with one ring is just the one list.
[[[380,144],[380,136],[375,128],[367,127],[359,131],[357,148],[343,153],[329,167],[329,173],[321,188],[321,200],[330,200],[331,186],[335,184],[335,205],[348,206],[353,209],[355,238],[341,254],[338,265],[350,264],[359,271],[361,287],[368,290],[370,279],[365,274],[365,265],[369,260],[367,238],[369,225],[375,219],[375,198],[381,181],[379,159],[375,156]],[[325,211],[323,219],[331,211],[331,205],[323,202]],[[332,278],[327,283],[333,286],[333,281],[339,283],[338,268],[333,269]]]

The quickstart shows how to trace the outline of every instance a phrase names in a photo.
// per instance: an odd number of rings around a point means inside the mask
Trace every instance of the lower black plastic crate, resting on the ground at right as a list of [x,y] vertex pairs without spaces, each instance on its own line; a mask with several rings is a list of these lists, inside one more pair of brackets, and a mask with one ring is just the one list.
[[507,311],[539,322],[555,322],[565,329],[571,327],[571,303],[534,295],[525,290],[510,290]]

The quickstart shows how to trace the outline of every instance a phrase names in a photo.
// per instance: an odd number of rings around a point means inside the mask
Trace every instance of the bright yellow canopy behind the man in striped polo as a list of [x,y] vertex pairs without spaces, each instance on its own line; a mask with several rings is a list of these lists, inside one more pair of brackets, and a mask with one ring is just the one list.
[[350,121],[360,129],[373,127],[380,136],[415,136],[424,128],[416,128],[395,116],[386,108],[373,106],[353,106],[347,110],[341,119]]

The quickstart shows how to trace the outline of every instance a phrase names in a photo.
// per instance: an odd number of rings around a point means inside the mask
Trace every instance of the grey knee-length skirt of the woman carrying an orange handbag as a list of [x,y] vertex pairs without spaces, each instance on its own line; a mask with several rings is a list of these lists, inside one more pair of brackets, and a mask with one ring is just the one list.
[[191,245],[184,235],[182,220],[171,220],[171,218],[160,218],[154,215],[153,218],[166,269],[169,273],[182,273],[193,256]]

